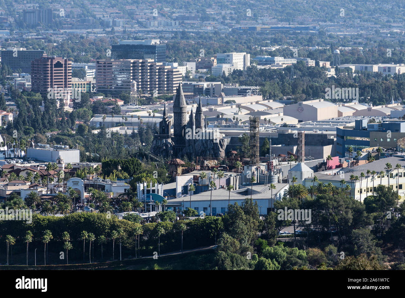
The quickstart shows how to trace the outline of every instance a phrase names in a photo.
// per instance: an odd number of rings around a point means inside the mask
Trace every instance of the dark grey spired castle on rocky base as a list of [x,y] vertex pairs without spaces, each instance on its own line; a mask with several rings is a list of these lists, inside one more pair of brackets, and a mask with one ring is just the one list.
[[225,149],[229,139],[222,138],[222,134],[215,128],[207,128],[201,98],[195,115],[191,110],[190,116],[187,117],[187,104],[181,83],[176,89],[176,97],[173,102],[173,134],[171,134],[171,126],[172,121],[168,119],[165,102],[163,119],[159,123],[159,133],[155,134],[153,138],[152,153],[164,158],[183,156],[187,156],[189,159],[196,156],[225,158]]

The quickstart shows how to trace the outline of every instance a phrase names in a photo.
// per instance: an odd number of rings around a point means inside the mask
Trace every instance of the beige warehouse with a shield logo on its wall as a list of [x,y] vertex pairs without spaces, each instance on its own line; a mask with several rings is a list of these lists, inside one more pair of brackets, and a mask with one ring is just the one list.
[[338,117],[338,106],[323,99],[307,100],[284,106],[283,113],[299,122],[320,121]]

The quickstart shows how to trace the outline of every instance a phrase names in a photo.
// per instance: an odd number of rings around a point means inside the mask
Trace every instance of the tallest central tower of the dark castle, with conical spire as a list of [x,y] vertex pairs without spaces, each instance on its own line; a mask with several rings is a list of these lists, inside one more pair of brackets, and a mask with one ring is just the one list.
[[181,83],[176,89],[176,97],[173,102],[173,134],[175,137],[185,138],[187,125],[187,104],[183,94]]

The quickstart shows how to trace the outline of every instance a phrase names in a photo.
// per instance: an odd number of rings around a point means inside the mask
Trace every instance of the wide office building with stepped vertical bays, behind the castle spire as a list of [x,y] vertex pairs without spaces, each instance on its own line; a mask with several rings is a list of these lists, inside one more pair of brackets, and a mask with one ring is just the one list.
[[114,95],[128,92],[132,81],[143,94],[171,94],[181,81],[181,72],[152,59],[97,60],[97,92]]

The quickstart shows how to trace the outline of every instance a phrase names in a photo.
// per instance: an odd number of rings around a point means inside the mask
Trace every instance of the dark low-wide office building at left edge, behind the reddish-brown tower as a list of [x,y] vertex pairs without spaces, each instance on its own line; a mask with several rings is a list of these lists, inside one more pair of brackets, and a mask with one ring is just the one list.
[[2,65],[12,70],[21,69],[21,72],[31,72],[31,61],[46,56],[45,51],[27,50],[26,48],[7,48],[1,51]]

